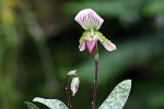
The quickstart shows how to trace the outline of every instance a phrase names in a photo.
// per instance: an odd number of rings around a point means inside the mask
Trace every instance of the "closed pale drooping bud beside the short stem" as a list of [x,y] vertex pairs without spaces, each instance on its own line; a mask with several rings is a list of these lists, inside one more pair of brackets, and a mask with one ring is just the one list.
[[80,83],[79,77],[73,77],[73,78],[72,78],[72,82],[71,82],[72,96],[74,96],[75,93],[78,92],[79,83]]

